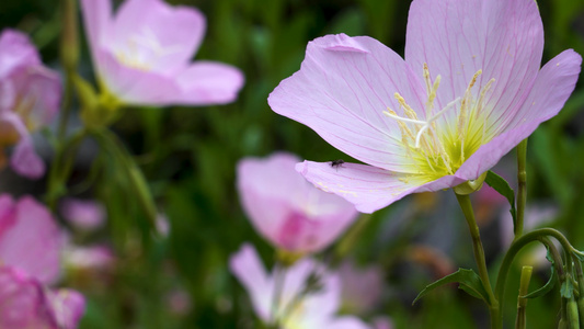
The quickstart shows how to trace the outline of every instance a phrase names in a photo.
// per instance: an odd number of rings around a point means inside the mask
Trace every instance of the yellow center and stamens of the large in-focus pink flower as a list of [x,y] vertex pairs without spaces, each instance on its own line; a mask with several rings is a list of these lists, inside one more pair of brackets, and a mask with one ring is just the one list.
[[[495,80],[489,80],[478,92],[478,98],[474,98],[472,88],[481,73],[482,70],[478,70],[472,76],[461,98],[455,99],[433,114],[440,76],[432,82],[427,65],[424,64],[427,91],[426,121],[420,120],[416,111],[398,92],[394,93],[404,116],[399,116],[389,107],[383,114],[397,121],[401,132],[401,144],[414,164],[412,174],[404,179],[406,182],[409,179],[431,182],[454,174],[481,145],[493,138],[488,113],[484,111],[484,100]],[[458,109],[456,115],[448,115],[456,109]]]

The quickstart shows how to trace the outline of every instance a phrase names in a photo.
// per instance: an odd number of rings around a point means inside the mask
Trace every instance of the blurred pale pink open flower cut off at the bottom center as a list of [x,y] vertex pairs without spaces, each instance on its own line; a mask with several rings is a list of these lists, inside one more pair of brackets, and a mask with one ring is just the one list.
[[[366,329],[362,320],[352,316],[335,316],[341,298],[341,283],[337,275],[327,272],[311,259],[302,259],[286,269],[282,288],[282,298],[277,309],[274,305],[275,277],[265,272],[255,249],[243,245],[229,261],[231,272],[250,294],[253,308],[265,324],[273,322],[277,315],[283,329],[306,328],[337,328]],[[294,299],[300,294],[309,276],[316,273],[321,288],[306,294],[296,303]],[[291,305],[291,306],[290,306]]]

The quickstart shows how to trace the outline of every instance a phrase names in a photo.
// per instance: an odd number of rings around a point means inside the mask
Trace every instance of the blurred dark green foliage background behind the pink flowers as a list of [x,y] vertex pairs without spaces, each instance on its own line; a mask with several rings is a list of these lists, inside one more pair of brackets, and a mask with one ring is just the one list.
[[[241,68],[245,87],[229,105],[128,109],[112,127],[136,155],[159,211],[168,216],[168,238],[148,232],[138,203],[126,193],[126,178],[104,158],[106,155],[95,151],[91,143],[84,145],[91,161],[79,159],[70,185],[89,182],[92,188],[72,189],[71,193],[101,200],[108,218],[106,228],[90,235],[73,234],[73,238],[82,245],[111,246],[117,262],[99,277],[67,272],[64,284],[88,297],[80,328],[261,328],[245,292],[227,269],[229,256],[244,241],[253,242],[267,264],[274,261],[272,248],[253,231],[239,205],[236,163],[242,157],[275,150],[316,161],[350,160],[308,127],[272,112],[267,95],[299,69],[307,43],[318,36],[341,32],[369,35],[403,55],[410,1],[169,2],[197,7],[207,16],[207,34],[196,59]],[[543,63],[565,48],[584,54],[584,1],[538,3],[546,31]],[[58,1],[47,0],[0,2],[0,27],[30,33],[44,61],[56,68],[58,5]],[[81,38],[80,72],[92,79],[82,33]],[[554,205],[558,212],[550,225],[566,234],[579,249],[584,249],[583,107],[581,81],[560,115],[543,124],[528,145],[528,206]],[[516,184],[514,155],[495,171]],[[13,193],[35,191],[42,195],[45,189],[42,181],[32,184],[14,177],[5,181],[10,183],[2,189]],[[344,239],[325,252],[324,257],[352,257],[359,264],[382,268],[382,298],[365,319],[388,315],[397,328],[486,328],[488,314],[481,302],[455,286],[433,292],[411,306],[419,291],[446,274],[436,269],[474,268],[467,228],[451,194],[412,195],[371,216],[362,216]],[[488,261],[490,269],[496,270],[502,254],[499,217],[505,211],[486,202],[476,205],[480,206],[486,209],[481,218]],[[417,249],[420,246],[431,247],[445,259],[420,257],[420,252],[426,254],[425,249]],[[507,287],[508,324],[514,320],[520,264],[517,262]],[[531,287],[542,285],[548,275],[547,265],[537,270]],[[558,290],[529,302],[528,328],[556,326]],[[169,298],[176,295],[184,303],[190,300],[181,311],[170,307]]]

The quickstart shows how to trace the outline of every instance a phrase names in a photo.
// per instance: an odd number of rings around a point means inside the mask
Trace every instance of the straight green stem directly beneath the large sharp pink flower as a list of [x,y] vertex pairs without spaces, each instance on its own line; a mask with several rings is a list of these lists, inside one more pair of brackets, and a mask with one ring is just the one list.
[[[456,194],[456,193],[455,193]],[[474,251],[474,260],[477,261],[477,266],[479,268],[479,276],[481,277],[482,284],[486,294],[489,295],[489,311],[491,315],[491,326],[492,328],[497,327],[497,319],[500,314],[499,302],[493,294],[493,288],[491,287],[491,282],[489,280],[489,271],[486,269],[486,261],[484,258],[484,249],[482,247],[481,235],[477,220],[474,219],[474,212],[472,211],[472,204],[470,202],[470,196],[456,194],[456,198],[460,204],[460,208],[465,214],[467,224],[469,227],[470,236],[472,238],[472,250]]]

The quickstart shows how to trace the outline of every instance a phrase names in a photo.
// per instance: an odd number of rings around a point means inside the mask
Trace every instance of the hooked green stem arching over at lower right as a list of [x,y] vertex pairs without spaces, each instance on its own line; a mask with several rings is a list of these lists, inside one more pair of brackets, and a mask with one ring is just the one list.
[[[575,251],[575,249],[570,245],[568,239],[559,230],[556,230],[553,228],[536,229],[516,239],[511,245],[509,249],[507,250],[507,253],[503,258],[503,262],[501,263],[501,269],[499,270],[499,275],[496,277],[495,296],[499,300],[500,309],[503,309],[505,283],[507,281],[507,274],[511,269],[511,264],[515,259],[515,256],[517,256],[517,253],[519,252],[519,250],[522,250],[523,247],[534,241],[541,241],[553,252],[553,250],[556,250],[556,247],[549,241],[549,239],[547,239],[547,237],[556,238],[562,245],[562,248],[564,250],[570,250],[571,252]],[[557,258],[557,266],[561,268],[561,257],[559,252],[557,252],[557,256],[553,257]],[[558,275],[560,275],[561,273],[563,273],[563,269],[561,271],[560,269],[558,269]],[[501,313],[499,314],[497,326],[497,328],[501,328],[501,326],[503,326],[503,315]]]

